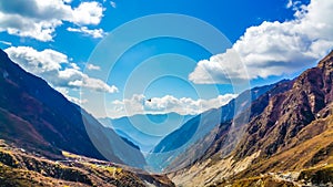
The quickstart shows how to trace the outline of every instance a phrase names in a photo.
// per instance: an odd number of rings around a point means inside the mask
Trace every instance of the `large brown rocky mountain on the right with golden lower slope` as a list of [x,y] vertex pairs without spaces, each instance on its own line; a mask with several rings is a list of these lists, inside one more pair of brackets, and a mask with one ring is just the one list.
[[[232,121],[220,124],[208,135],[215,136],[204,156],[170,177],[179,186],[332,184],[332,81],[333,52],[317,66],[274,85]],[[244,124],[246,111],[250,117]],[[204,139],[185,153],[195,153]],[[182,159],[173,160],[171,166]]]

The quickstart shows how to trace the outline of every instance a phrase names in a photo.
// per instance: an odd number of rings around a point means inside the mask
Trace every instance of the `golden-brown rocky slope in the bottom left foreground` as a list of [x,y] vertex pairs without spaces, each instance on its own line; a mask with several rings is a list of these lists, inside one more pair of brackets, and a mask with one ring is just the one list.
[[165,176],[133,173],[132,168],[68,152],[50,160],[0,139],[0,186],[174,186]]

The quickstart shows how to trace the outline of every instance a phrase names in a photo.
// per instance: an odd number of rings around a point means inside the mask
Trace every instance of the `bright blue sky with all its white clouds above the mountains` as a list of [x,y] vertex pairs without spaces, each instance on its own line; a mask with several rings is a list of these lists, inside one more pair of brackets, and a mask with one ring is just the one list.
[[0,48],[97,117],[199,114],[314,66],[332,0],[0,1]]

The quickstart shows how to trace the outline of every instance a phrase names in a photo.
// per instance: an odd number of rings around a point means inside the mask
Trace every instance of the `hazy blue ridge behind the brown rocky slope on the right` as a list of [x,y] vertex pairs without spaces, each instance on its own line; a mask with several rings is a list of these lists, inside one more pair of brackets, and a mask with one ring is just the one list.
[[[284,80],[276,84],[281,84],[283,82],[289,81]],[[230,122],[235,115],[239,115],[246,110],[252,101],[260,97],[276,84],[244,91],[236,98],[230,101],[226,105],[218,110],[206,111],[191,118],[180,128],[164,137],[154,147],[150,156],[148,156],[149,165],[154,166],[153,169],[167,172],[169,169],[173,170],[178,167],[181,168],[198,159],[212,143],[214,135],[208,135],[214,131],[219,124]],[[250,114],[243,114],[243,116],[246,115],[249,116]],[[205,139],[204,137],[208,138]],[[193,147],[199,139],[205,139],[205,143],[200,144],[200,147]],[[190,154],[188,149],[195,152],[195,154]],[[170,164],[172,165],[170,166]]]

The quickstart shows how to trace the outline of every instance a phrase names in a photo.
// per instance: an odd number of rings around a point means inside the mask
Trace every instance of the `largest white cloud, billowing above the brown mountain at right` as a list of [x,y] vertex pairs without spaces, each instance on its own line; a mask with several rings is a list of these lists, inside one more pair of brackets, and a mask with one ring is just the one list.
[[294,20],[251,27],[225,53],[200,61],[189,75],[194,83],[225,83],[292,74],[323,58],[333,46],[332,0],[312,0],[305,7],[290,2]]

